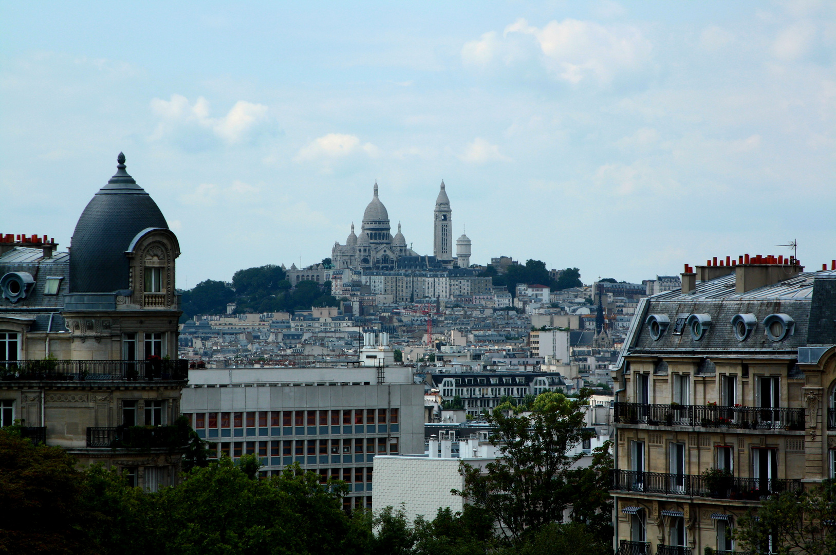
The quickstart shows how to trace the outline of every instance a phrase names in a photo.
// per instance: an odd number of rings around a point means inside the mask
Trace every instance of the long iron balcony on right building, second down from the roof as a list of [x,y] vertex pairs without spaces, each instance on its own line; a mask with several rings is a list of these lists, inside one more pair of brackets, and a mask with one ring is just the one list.
[[767,478],[719,478],[706,483],[703,476],[662,472],[614,471],[613,489],[660,495],[710,497],[738,501],[761,501],[780,491],[801,491],[800,480]]

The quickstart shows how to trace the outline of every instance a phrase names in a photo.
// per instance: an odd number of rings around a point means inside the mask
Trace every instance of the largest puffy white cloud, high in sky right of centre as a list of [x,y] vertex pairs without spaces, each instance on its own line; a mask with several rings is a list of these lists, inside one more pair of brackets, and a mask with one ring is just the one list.
[[465,43],[462,62],[485,68],[495,59],[501,58],[505,64],[524,59],[519,40],[523,36],[535,38],[549,73],[572,84],[584,79],[609,83],[616,74],[639,69],[652,49],[641,31],[631,26],[564,19],[538,28],[520,18],[505,28],[502,38],[491,31]]

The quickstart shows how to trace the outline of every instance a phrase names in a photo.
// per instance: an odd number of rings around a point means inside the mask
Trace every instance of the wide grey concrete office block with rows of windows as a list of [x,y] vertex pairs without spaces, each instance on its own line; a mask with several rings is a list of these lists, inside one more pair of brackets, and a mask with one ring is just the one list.
[[348,482],[347,508],[372,506],[375,456],[424,448],[424,386],[401,366],[191,370],[182,410],[216,456]]

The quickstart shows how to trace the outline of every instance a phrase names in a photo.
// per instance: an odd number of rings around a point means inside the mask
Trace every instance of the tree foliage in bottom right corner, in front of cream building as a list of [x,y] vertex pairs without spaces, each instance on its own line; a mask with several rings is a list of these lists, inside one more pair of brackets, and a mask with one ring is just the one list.
[[796,493],[773,494],[762,506],[750,509],[737,521],[733,537],[753,552],[772,548],[779,555],[803,552],[810,555],[836,553],[836,482]]

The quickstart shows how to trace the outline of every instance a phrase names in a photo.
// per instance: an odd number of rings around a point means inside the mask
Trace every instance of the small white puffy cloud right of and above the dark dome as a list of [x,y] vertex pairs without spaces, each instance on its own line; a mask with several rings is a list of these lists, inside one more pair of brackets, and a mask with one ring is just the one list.
[[161,120],[152,140],[171,134],[177,128],[194,126],[210,130],[217,138],[229,145],[242,142],[256,125],[267,120],[268,107],[238,100],[227,115],[212,118],[209,115],[209,101],[202,96],[194,104],[181,94],[171,94],[171,100],[152,99],[151,110]]

